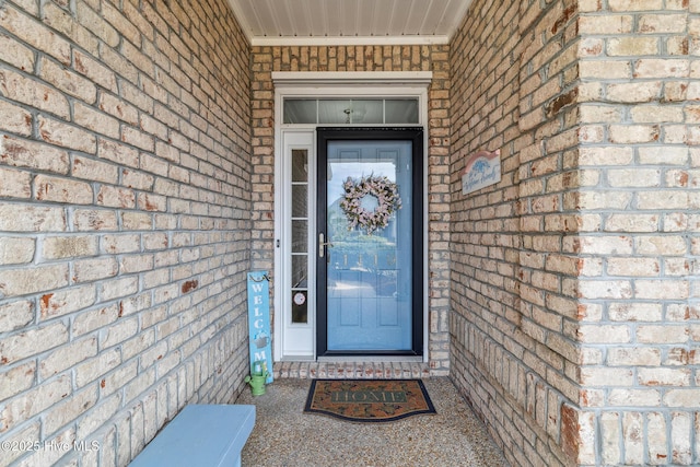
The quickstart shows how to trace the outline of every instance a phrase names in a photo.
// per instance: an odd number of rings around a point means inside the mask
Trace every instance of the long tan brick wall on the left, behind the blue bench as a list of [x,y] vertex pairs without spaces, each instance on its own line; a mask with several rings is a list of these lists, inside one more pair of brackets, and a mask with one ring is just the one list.
[[0,465],[126,465],[241,390],[248,83],[223,1],[0,2]]

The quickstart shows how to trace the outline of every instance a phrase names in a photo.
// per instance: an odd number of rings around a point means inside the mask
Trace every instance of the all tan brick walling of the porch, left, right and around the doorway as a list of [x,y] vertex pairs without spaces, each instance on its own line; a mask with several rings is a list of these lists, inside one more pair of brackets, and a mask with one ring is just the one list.
[[[0,2],[0,441],[25,446],[0,464],[124,466],[234,400],[245,272],[275,266],[271,72],[409,70],[433,72],[430,374],[512,465],[700,464],[699,44],[698,0],[475,0],[450,46],[252,48],[218,0]],[[465,196],[485,149],[502,180]]]

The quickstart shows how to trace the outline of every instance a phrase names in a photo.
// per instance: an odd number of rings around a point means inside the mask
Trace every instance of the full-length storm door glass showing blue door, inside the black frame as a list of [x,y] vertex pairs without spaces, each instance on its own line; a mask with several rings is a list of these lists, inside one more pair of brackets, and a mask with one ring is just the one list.
[[[411,349],[411,141],[328,142],[329,351]],[[346,202],[352,194],[357,205]],[[382,217],[389,205],[394,212]]]

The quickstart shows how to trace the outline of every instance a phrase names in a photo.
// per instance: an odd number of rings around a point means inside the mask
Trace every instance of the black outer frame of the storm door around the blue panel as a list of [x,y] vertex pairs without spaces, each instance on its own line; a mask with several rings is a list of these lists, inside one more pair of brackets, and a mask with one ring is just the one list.
[[[320,209],[327,206],[327,192],[319,189],[320,182],[327,178],[326,148],[330,141],[407,141],[411,145],[411,163],[413,173],[411,180],[411,199],[413,200],[413,212],[411,218],[412,235],[412,287],[411,287],[411,350],[353,350],[332,351],[328,350],[328,311],[326,288],[319,284],[326,283],[327,268],[322,267],[320,258],[316,257],[316,355],[422,355],[423,354],[423,282],[424,282],[424,260],[423,260],[423,229],[424,223],[424,192],[423,192],[423,127],[390,127],[390,128],[357,128],[357,127],[318,127],[316,128],[316,238],[323,233],[328,238],[326,226],[326,210]],[[317,247],[318,248],[318,247]],[[316,249],[317,249],[316,248]],[[315,252],[315,249],[314,249]]]

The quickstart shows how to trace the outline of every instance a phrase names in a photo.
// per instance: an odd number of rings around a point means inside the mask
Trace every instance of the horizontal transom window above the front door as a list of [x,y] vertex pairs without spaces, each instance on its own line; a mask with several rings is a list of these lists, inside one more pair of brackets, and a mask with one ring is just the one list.
[[283,114],[287,125],[415,125],[419,102],[417,97],[285,97]]

